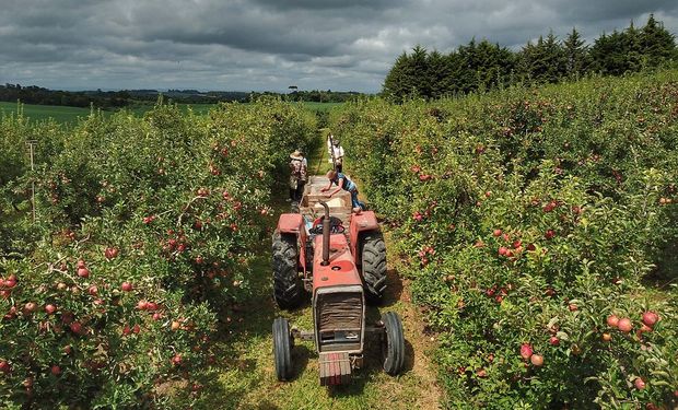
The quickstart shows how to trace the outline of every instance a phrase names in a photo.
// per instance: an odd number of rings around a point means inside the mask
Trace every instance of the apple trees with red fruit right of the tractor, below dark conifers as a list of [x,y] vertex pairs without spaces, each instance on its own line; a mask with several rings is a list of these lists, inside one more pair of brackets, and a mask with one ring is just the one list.
[[678,72],[334,116],[440,333],[449,408],[678,398]]

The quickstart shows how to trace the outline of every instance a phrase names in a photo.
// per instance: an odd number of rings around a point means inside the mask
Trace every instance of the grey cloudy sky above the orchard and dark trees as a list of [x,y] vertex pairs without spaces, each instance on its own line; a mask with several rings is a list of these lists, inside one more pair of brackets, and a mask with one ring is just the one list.
[[417,44],[593,39],[652,12],[678,33],[676,0],[0,0],[0,83],[375,92]]

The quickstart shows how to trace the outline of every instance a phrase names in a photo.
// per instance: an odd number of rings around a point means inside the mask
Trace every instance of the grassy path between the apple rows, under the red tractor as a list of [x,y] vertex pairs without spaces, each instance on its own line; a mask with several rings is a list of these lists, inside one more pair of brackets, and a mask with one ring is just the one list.
[[[314,169],[327,166],[325,145],[309,159]],[[278,204],[284,211],[287,202]],[[277,221],[274,216],[271,223]],[[388,236],[388,235],[387,235]],[[266,246],[254,270],[253,297],[224,320],[224,338],[219,343],[223,352],[222,370],[210,380],[201,407],[210,409],[437,409],[441,389],[435,367],[430,361],[434,340],[425,335],[419,311],[411,304],[409,288],[389,260],[388,288],[378,308],[370,307],[367,319],[378,319],[381,313],[397,312],[404,321],[406,337],[406,370],[391,377],[381,368],[378,344],[369,342],[365,367],[353,373],[348,386],[326,388],[318,383],[317,354],[313,342],[296,342],[293,349],[295,377],[291,382],[276,379],[272,356],[271,325],[277,316],[290,319],[301,329],[312,328],[312,313],[306,303],[293,312],[281,312],[272,301],[270,250]]]

